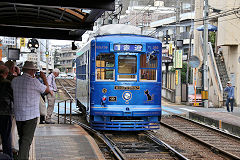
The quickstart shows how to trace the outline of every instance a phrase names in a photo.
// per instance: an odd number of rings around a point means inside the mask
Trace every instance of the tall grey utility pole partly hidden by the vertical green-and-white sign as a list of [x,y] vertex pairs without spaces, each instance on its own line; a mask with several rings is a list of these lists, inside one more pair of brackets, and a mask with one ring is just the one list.
[[[175,52],[176,52],[176,50],[178,50],[178,47],[177,47],[177,41],[178,40],[180,40],[180,0],[177,0],[177,6],[176,6]],[[175,95],[175,103],[181,104],[181,69],[179,69],[179,68],[176,69],[176,95]]]

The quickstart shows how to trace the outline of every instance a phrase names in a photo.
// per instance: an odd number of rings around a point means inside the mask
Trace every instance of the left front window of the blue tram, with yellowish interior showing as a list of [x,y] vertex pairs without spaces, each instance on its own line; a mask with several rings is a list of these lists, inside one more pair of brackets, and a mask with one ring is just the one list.
[[115,55],[101,53],[96,57],[97,80],[114,80]]

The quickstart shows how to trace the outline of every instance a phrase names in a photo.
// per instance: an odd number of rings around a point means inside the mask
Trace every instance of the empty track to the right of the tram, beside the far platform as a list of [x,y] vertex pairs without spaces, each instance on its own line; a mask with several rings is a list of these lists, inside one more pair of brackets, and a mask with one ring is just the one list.
[[180,116],[163,118],[161,125],[208,147],[228,159],[240,159],[240,137]]

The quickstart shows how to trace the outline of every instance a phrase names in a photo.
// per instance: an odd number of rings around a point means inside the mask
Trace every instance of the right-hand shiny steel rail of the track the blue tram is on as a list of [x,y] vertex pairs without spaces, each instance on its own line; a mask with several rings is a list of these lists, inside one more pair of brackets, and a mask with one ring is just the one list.
[[185,156],[183,156],[181,153],[179,153],[178,151],[176,151],[174,148],[172,148],[170,145],[168,145],[167,143],[165,143],[164,141],[158,139],[157,137],[155,137],[153,134],[145,131],[144,132],[146,134],[146,136],[151,139],[153,142],[157,143],[158,145],[164,146],[165,148],[167,148],[171,153],[173,153],[177,158],[181,159],[181,160],[188,160],[188,158],[186,158]]

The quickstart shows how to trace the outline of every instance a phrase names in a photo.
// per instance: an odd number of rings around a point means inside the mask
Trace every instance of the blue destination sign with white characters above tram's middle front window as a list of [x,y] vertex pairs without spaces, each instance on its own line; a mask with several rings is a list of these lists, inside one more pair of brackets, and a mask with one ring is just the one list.
[[141,44],[114,44],[114,51],[140,52],[143,47]]

